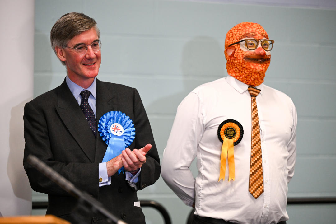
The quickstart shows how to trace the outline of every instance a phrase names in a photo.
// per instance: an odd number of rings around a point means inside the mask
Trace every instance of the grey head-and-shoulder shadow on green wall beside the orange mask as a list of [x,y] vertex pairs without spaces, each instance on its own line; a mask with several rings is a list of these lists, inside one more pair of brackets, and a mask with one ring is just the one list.
[[224,51],[217,40],[206,36],[194,37],[184,45],[182,51],[182,77],[176,81],[183,82],[183,89],[155,100],[146,110],[151,114],[175,115],[179,103],[193,89],[225,76],[224,65]]

